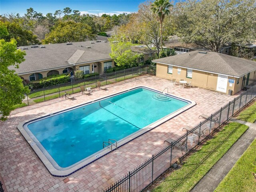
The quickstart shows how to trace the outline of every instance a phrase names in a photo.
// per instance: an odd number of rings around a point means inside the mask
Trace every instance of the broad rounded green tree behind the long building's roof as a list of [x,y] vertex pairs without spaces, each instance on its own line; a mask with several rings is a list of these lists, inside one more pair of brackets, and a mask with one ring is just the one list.
[[69,21],[58,23],[56,28],[46,34],[43,43],[80,42],[87,39],[95,39],[92,28],[87,24]]

